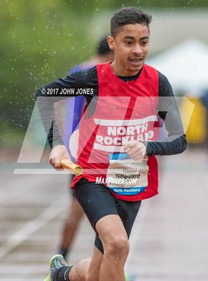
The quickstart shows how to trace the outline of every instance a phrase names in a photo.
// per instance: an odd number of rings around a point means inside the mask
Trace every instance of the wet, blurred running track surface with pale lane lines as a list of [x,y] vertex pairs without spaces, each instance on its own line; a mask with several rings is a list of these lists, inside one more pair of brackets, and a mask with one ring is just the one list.
[[[207,152],[160,160],[160,194],[142,202],[126,270],[136,281],[207,281]],[[1,164],[0,280],[43,281],[71,200],[68,175],[17,175],[14,168]],[[94,237],[83,219],[69,264],[91,256]]]

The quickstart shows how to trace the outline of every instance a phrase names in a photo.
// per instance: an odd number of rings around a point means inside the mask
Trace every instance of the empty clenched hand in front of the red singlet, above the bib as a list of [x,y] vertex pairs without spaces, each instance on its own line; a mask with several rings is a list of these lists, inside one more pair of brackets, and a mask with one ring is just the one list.
[[124,151],[134,160],[142,160],[146,157],[146,146],[136,140],[128,141],[124,146]]

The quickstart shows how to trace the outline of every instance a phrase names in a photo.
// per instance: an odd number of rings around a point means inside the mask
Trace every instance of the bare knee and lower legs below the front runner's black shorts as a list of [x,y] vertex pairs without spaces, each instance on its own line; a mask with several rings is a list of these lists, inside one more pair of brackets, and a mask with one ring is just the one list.
[[126,231],[118,215],[101,218],[96,229],[104,255],[94,246],[92,259],[80,261],[69,272],[70,281],[125,281],[124,264],[129,252]]

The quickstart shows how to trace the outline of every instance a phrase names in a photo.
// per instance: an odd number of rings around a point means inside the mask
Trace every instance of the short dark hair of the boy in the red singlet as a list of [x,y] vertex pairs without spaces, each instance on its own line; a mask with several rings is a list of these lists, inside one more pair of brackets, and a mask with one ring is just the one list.
[[119,9],[110,20],[110,33],[113,38],[119,33],[120,28],[126,24],[144,24],[150,31],[149,24],[152,21],[152,16],[148,13],[135,8],[124,7]]

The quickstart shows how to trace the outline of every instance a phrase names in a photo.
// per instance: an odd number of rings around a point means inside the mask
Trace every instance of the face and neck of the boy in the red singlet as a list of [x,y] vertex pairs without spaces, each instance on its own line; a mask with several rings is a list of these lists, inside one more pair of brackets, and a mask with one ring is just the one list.
[[150,33],[146,25],[124,25],[115,39],[108,37],[115,59],[111,67],[116,75],[134,76],[143,67],[149,51]]

